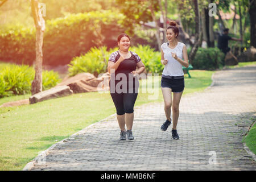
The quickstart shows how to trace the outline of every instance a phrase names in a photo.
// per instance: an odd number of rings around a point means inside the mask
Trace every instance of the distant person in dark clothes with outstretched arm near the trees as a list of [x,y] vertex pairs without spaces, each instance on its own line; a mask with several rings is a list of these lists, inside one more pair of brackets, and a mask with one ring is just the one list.
[[230,52],[231,55],[233,57],[235,57],[233,55],[233,53],[230,51],[230,48],[229,48],[229,40],[236,40],[236,41],[242,41],[242,39],[236,39],[236,38],[232,38],[231,36],[228,35],[229,34],[229,28],[225,28],[223,30],[223,34],[219,35],[218,36],[218,48],[225,53],[228,53]]

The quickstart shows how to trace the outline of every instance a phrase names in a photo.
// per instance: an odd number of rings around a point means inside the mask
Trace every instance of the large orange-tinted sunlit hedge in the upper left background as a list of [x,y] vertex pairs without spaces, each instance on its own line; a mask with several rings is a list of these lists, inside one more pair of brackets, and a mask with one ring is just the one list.
[[[116,37],[123,32],[123,14],[93,11],[68,14],[47,20],[43,42],[43,64],[64,65],[73,57],[86,53],[100,43],[116,46]],[[35,60],[35,28],[11,26],[0,30],[0,59],[32,65]]]

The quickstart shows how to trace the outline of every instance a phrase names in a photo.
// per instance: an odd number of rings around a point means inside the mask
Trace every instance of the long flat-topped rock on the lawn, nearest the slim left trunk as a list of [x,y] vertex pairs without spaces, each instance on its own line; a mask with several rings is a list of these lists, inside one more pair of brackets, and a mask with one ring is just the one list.
[[69,88],[69,86],[56,86],[51,89],[44,90],[43,92],[34,94],[29,100],[30,104],[35,104],[36,102],[42,102],[51,98],[69,96],[72,93],[73,91]]

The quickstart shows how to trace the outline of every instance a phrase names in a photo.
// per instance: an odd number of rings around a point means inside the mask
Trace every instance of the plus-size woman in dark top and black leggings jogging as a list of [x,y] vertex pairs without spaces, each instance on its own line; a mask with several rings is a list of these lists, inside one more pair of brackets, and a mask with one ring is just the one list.
[[[110,95],[117,110],[117,121],[121,130],[120,140],[126,140],[126,135],[127,139],[133,140],[131,129],[134,118],[133,107],[138,96],[137,76],[144,71],[145,66],[137,53],[129,51],[131,44],[127,34],[119,35],[117,43],[119,50],[110,55],[108,62],[108,72],[111,73],[114,70],[110,76]],[[139,69],[136,70],[137,67]],[[124,84],[121,84],[123,82]],[[120,86],[121,89],[119,89],[118,85],[122,85],[122,88]]]

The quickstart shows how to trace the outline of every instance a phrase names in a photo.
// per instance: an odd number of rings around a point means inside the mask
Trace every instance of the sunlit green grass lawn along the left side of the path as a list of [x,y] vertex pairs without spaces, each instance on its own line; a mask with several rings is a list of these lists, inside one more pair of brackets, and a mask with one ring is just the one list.
[[[191,71],[192,78],[185,75],[184,94],[203,91],[211,84],[212,73]],[[160,78],[156,84],[160,85]],[[148,98],[150,95],[153,94],[139,93],[135,106],[163,101],[160,87],[154,100]],[[21,170],[40,151],[56,143],[55,140],[67,138],[114,113],[110,94],[96,92],[73,94],[34,105],[2,107],[0,170]]]

